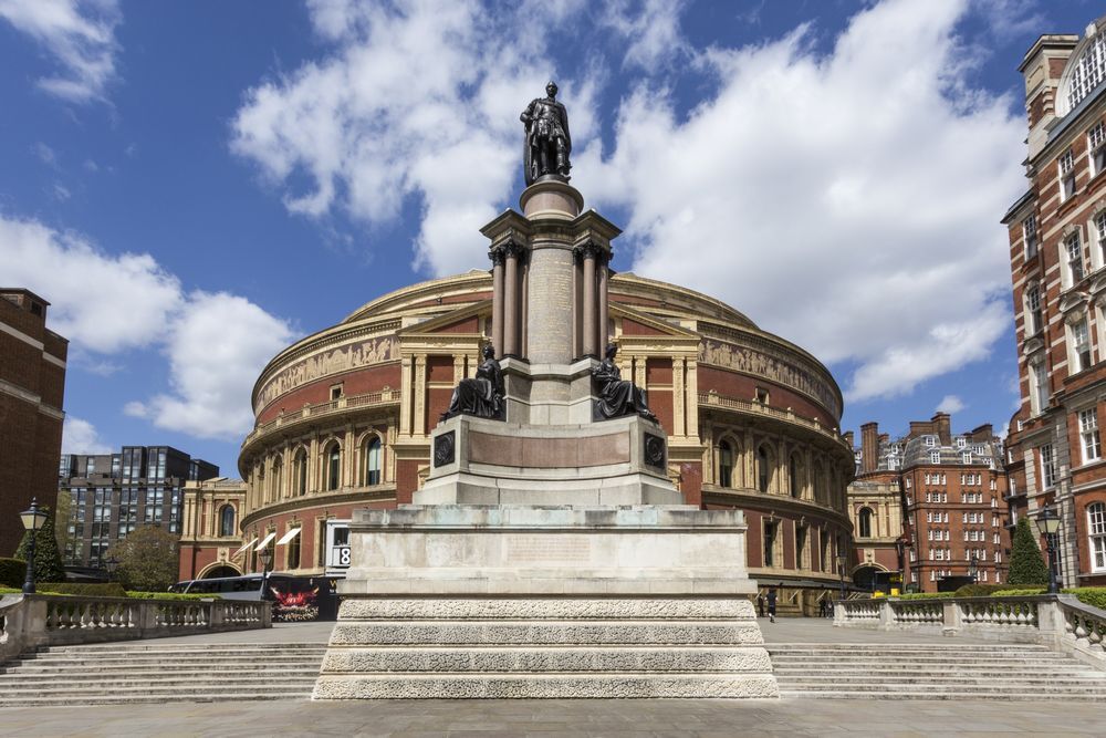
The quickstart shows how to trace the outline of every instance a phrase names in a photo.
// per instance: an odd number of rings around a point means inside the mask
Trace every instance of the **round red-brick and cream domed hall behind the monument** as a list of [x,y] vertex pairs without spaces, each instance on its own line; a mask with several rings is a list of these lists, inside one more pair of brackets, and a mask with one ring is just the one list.
[[[212,510],[226,520],[240,507],[242,538],[192,541],[192,575],[217,559],[221,573],[260,571],[264,545],[274,571],[341,575],[352,511],[409,503],[426,480],[429,433],[493,336],[492,280],[473,270],[390,292],[275,356],[253,391],[244,493]],[[743,510],[750,576],[783,585],[782,612],[815,612],[852,541],[853,449],[830,372],[705,294],[629,273],[604,281],[608,337],[668,433],[671,480],[689,505]]]

